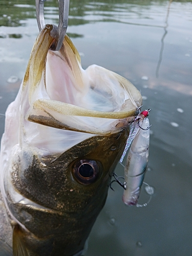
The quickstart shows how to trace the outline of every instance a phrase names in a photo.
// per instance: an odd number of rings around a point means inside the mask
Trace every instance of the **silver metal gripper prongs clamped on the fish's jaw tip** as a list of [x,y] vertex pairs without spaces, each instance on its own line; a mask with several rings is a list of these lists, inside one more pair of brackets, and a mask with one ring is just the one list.
[[[39,31],[45,26],[44,19],[44,2],[46,0],[35,0],[36,2],[36,18]],[[57,27],[58,31],[58,42],[55,51],[59,51],[66,35],[68,27],[69,17],[69,1],[70,0],[58,0],[59,2],[59,24]]]

